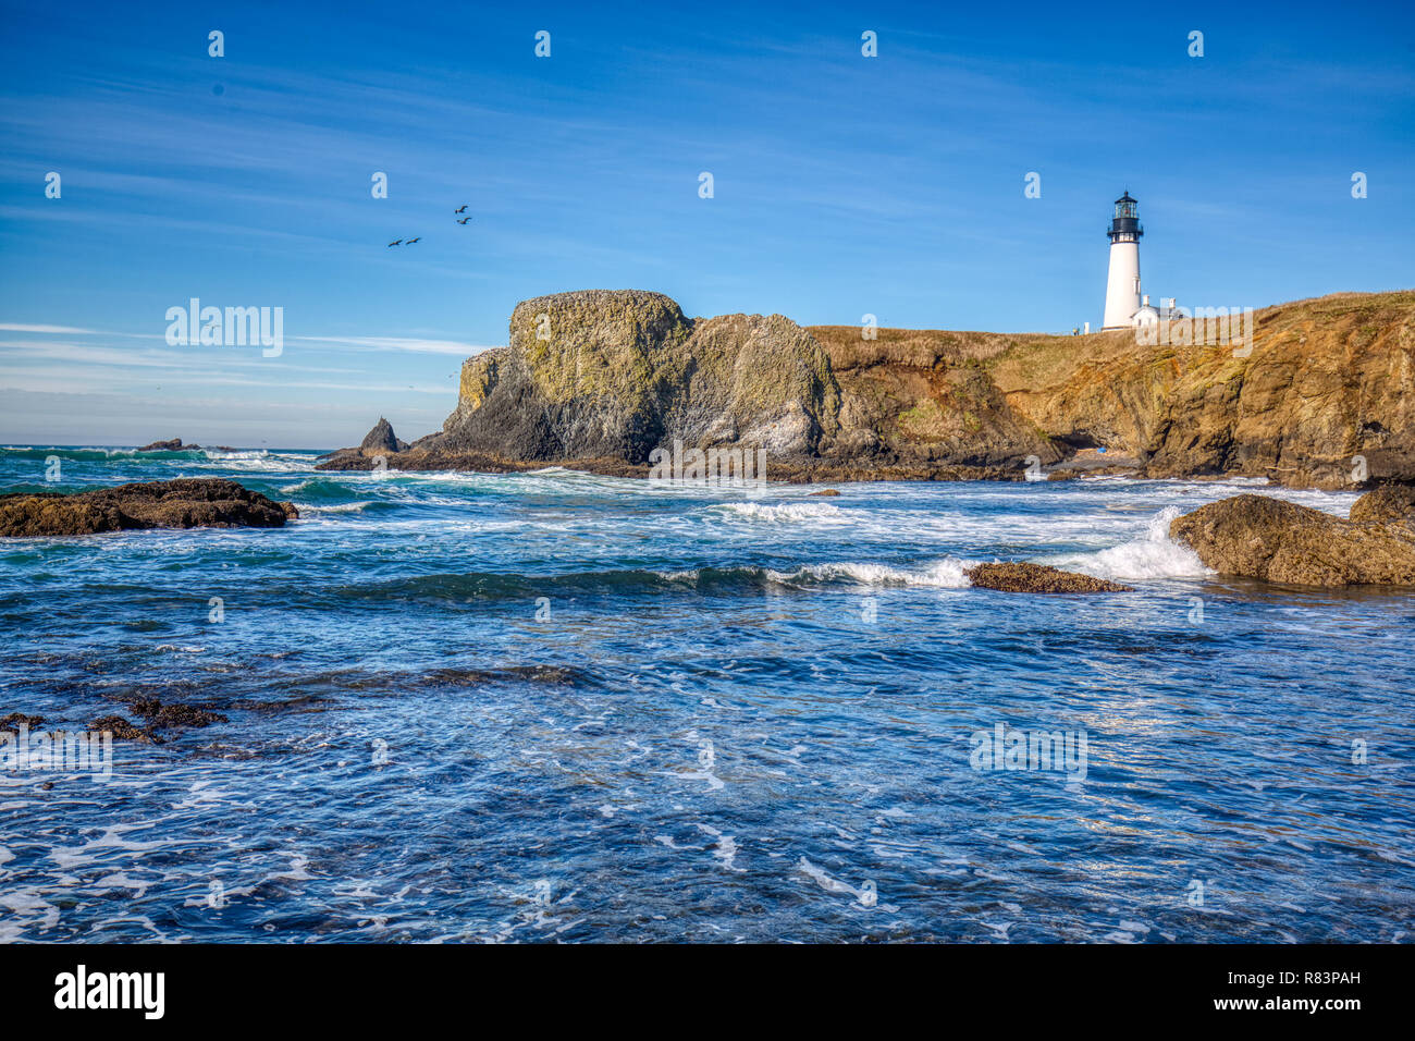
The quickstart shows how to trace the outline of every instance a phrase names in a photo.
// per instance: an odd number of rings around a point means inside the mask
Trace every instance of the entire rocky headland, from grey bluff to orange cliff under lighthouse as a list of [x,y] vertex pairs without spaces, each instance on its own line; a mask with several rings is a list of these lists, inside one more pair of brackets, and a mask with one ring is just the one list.
[[773,476],[802,480],[1017,479],[1029,456],[1105,449],[1148,476],[1415,482],[1412,319],[1412,292],[1340,293],[1258,312],[1235,350],[1203,343],[1201,326],[1150,344],[1131,331],[866,339],[780,314],[689,319],[659,293],[559,293],[516,306],[509,344],[463,365],[443,431],[389,466],[641,473],[682,440],[761,448]]

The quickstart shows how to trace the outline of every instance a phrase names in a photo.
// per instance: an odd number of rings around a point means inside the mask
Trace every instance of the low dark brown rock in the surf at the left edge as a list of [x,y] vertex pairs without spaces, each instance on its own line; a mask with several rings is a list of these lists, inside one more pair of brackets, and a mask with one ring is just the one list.
[[126,528],[277,528],[299,517],[231,480],[178,477],[76,494],[0,494],[0,535],[88,535]]

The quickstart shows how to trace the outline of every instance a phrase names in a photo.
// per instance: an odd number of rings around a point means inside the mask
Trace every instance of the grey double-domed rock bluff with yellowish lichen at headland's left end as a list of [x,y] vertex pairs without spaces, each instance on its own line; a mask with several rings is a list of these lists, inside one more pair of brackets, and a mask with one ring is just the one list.
[[419,446],[644,463],[678,439],[811,455],[838,412],[829,360],[780,314],[691,320],[661,293],[586,290],[518,305],[511,344],[467,360],[457,411]]

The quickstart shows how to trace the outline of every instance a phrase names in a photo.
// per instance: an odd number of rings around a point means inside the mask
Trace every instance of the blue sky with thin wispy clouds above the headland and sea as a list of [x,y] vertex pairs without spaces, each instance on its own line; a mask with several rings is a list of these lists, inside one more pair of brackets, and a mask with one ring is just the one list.
[[[1156,297],[1415,285],[1415,8],[1065,7],[6,0],[0,442],[412,439],[570,289],[1068,331],[1126,187]],[[192,296],[283,354],[168,347]]]

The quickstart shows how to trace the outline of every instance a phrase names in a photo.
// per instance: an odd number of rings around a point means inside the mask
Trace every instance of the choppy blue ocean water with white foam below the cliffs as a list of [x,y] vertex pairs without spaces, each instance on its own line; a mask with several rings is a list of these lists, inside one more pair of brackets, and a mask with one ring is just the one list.
[[[0,770],[0,940],[1415,932],[1415,601],[1221,579],[1165,537],[1255,483],[314,462],[0,449],[7,490],[222,476],[301,511],[0,542],[0,715],[228,717],[115,744],[108,778]],[[1136,591],[968,588],[990,559]],[[1073,755],[988,769],[999,727]]]

